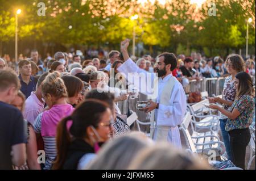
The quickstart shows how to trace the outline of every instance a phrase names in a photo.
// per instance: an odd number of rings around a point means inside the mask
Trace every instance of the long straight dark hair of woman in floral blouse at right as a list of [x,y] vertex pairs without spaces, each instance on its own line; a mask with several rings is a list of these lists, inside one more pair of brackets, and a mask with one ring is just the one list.
[[236,78],[239,80],[236,99],[239,99],[242,95],[255,95],[255,89],[253,87],[253,81],[248,73],[241,71],[236,74]]

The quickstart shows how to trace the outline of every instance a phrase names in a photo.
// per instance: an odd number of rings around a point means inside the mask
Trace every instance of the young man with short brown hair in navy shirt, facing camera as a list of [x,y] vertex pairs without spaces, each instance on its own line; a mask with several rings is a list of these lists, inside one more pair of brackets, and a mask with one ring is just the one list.
[[31,75],[31,62],[28,60],[21,60],[19,66],[19,80],[20,91],[28,98],[32,91],[36,89],[36,79]]

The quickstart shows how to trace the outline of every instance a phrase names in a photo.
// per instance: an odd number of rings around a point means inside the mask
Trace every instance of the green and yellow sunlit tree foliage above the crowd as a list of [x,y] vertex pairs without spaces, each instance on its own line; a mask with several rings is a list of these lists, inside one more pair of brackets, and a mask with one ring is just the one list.
[[[255,45],[255,0],[207,0],[201,7],[189,0],[0,0],[0,41],[15,35],[15,10],[19,15],[19,38],[42,43],[69,45],[113,44],[126,37],[145,45],[187,49],[242,48],[246,20],[249,44]],[[39,16],[38,3],[46,5],[46,16]],[[154,2],[154,4],[152,4]],[[208,14],[209,2],[216,5],[216,16]],[[130,16],[138,14],[138,20]],[[179,46],[178,46],[179,45]],[[179,48],[180,49],[180,48]]]

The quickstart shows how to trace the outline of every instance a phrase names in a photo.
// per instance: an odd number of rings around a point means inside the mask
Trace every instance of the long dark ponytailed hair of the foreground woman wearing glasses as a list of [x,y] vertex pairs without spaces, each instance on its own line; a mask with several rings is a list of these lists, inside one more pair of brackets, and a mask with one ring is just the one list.
[[[73,138],[88,138],[86,129],[91,125],[98,127],[102,114],[109,108],[108,104],[97,99],[87,99],[77,106],[71,116],[65,117],[57,125],[56,146],[57,157],[52,169],[61,169],[67,157],[67,151]],[[67,129],[67,122],[72,120],[71,128]]]

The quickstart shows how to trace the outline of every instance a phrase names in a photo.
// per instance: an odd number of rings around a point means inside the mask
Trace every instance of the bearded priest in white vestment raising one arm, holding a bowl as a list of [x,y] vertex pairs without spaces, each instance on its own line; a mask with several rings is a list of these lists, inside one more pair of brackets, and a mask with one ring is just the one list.
[[[125,62],[117,69],[128,76],[128,73],[147,73],[129,57],[127,47],[129,40],[122,41],[121,52]],[[171,71],[176,68],[177,59],[173,53],[163,53],[158,56],[156,72],[158,73],[158,96],[155,101],[150,101],[150,106],[144,108],[152,112],[156,122],[153,131],[153,140],[168,141],[181,148],[180,132],[177,125],[182,123],[187,110],[187,99],[183,86],[172,76]],[[129,81],[129,80],[128,80]],[[153,81],[151,81],[153,82]],[[141,87],[139,87],[139,90]]]

